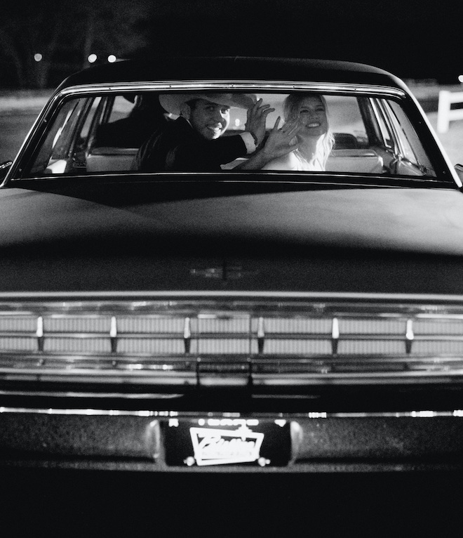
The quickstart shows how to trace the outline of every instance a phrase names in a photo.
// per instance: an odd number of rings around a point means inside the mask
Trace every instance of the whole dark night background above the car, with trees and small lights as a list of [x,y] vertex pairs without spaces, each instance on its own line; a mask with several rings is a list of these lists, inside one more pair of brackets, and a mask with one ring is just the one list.
[[[250,55],[370,63],[457,84],[461,0],[2,0],[0,88],[54,88],[117,58]],[[40,63],[35,53],[43,54]]]

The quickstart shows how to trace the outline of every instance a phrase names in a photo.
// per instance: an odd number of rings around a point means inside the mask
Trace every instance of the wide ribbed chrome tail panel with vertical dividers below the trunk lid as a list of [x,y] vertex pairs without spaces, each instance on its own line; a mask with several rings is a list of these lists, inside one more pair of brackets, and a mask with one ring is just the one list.
[[4,393],[436,382],[463,382],[463,296],[0,294]]

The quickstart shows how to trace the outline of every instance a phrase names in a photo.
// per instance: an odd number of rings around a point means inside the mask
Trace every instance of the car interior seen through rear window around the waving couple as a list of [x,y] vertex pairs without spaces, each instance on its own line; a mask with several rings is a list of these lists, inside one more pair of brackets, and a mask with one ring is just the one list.
[[[275,111],[267,132],[283,117],[285,93],[258,93]],[[333,173],[431,176],[435,173],[400,103],[374,96],[326,95],[335,145],[326,162]],[[135,155],[156,127],[175,117],[156,93],[107,93],[68,98],[36,152],[27,176],[136,172]],[[224,136],[243,132],[246,110],[231,108]],[[246,158],[246,157],[244,157]],[[234,169],[244,158],[223,165]]]

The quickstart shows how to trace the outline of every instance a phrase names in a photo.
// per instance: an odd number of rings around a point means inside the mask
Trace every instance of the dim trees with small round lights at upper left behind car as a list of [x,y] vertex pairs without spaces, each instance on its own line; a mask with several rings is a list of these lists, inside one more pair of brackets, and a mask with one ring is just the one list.
[[91,53],[123,58],[149,40],[148,0],[4,0],[2,4],[1,78],[18,88],[55,86],[53,77],[61,80],[88,67]]

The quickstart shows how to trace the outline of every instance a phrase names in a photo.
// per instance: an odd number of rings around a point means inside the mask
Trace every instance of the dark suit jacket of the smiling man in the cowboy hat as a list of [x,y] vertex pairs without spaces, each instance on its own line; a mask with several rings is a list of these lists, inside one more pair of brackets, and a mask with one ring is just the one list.
[[134,168],[143,172],[220,171],[226,164],[246,155],[241,136],[205,140],[180,117],[157,129],[140,147]]

